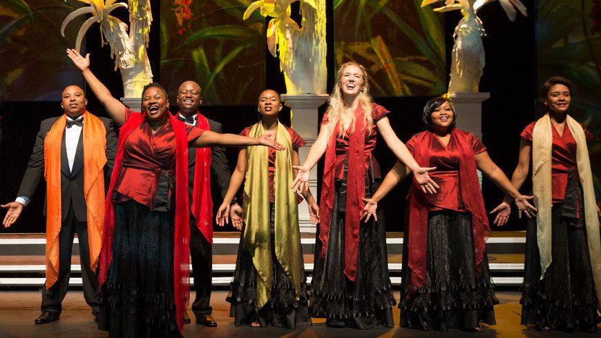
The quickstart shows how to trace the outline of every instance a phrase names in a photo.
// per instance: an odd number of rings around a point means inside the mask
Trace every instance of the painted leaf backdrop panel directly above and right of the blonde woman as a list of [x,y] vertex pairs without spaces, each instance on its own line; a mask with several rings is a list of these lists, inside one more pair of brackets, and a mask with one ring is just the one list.
[[336,68],[356,61],[376,96],[446,92],[443,15],[421,0],[334,0]]

